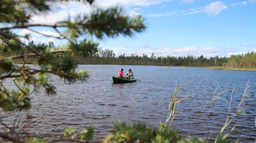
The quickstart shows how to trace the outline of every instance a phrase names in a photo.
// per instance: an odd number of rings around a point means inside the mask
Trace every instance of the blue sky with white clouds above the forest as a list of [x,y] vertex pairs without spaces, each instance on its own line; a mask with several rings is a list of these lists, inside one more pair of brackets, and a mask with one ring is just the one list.
[[[230,57],[256,52],[256,0],[96,0],[99,8],[122,6],[129,16],[142,15],[146,30],[133,38],[119,36],[95,40],[100,50],[116,55]],[[36,15],[31,23],[55,23],[58,20],[91,12],[89,5],[68,3],[53,5],[47,15]],[[57,35],[53,29],[38,31]],[[19,31],[20,34],[28,31]],[[32,34],[35,43],[63,41]]]

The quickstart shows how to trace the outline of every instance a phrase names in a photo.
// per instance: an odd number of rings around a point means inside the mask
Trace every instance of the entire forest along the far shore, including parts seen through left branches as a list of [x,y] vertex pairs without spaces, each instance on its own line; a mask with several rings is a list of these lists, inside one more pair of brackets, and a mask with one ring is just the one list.
[[[0,58],[13,55],[26,55],[31,53],[31,47],[35,44],[30,42],[27,46],[21,46],[18,51],[9,51],[8,48],[0,49]],[[45,48],[55,49],[53,42],[43,44]],[[76,57],[79,64],[113,64],[113,65],[162,65],[162,66],[190,66],[190,67],[229,67],[229,68],[256,68],[256,53],[245,53],[231,55],[227,57],[210,57],[205,58],[203,55],[196,57],[193,55],[175,57],[172,55],[155,56],[154,53],[149,57],[143,54],[139,55],[115,55],[113,50],[100,50],[86,58]],[[27,63],[33,63],[33,59],[25,59]],[[19,61],[15,61],[19,63]]]

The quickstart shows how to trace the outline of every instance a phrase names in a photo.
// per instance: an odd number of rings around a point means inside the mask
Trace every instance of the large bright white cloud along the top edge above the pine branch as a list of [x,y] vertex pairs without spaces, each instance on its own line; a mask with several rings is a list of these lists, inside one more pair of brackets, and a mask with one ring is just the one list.
[[[96,0],[94,5],[98,8],[110,8],[116,5],[123,6],[129,15],[138,15],[137,11],[139,8],[130,9],[133,6],[150,6],[150,5],[159,5],[164,2],[173,1],[173,0]],[[77,3],[77,2],[69,2],[69,3],[52,3],[51,4],[52,11],[44,15],[34,15],[31,18],[30,23],[47,23],[47,24],[55,24],[57,21],[65,20],[70,16],[73,18],[78,14],[88,14],[95,7],[91,7],[89,5]],[[160,16],[160,15],[153,15]]]

